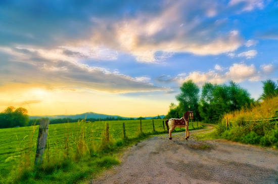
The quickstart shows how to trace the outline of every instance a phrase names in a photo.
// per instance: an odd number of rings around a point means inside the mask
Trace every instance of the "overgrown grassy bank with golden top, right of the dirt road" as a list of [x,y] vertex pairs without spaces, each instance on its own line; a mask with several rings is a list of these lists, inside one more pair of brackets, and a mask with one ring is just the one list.
[[[250,109],[225,114],[217,126],[217,132],[227,140],[277,148],[278,120],[254,121],[276,117],[278,117],[278,97],[265,100]],[[229,127],[225,126],[226,118],[230,123]]]

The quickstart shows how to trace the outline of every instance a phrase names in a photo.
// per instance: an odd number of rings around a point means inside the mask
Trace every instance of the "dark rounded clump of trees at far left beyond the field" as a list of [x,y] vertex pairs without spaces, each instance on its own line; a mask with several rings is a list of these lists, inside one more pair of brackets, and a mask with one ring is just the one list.
[[15,126],[27,126],[29,117],[27,110],[19,107],[8,107],[3,113],[0,113],[0,128],[8,128]]

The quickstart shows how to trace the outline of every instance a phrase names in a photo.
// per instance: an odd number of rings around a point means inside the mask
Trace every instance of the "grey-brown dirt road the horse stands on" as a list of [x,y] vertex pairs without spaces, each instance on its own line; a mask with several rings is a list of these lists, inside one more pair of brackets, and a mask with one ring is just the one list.
[[[212,127],[208,126],[207,131]],[[278,183],[278,151],[225,140],[197,141],[191,131],[153,136],[129,148],[119,166],[91,183]]]

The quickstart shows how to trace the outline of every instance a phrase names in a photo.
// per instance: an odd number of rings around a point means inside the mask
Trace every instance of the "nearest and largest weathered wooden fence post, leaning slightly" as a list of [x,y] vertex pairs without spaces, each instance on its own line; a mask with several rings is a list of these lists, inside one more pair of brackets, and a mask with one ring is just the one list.
[[49,119],[41,118],[39,129],[38,129],[35,166],[41,165],[43,163],[43,152],[45,146],[47,145],[47,140],[48,140],[48,126],[49,126]]

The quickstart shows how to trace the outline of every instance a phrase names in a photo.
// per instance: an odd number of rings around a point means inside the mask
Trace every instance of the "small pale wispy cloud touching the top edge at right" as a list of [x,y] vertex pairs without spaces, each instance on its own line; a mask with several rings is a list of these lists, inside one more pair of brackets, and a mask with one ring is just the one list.
[[230,0],[229,5],[235,6],[235,5],[243,5],[242,11],[252,11],[254,9],[262,9],[264,7],[263,0]]

